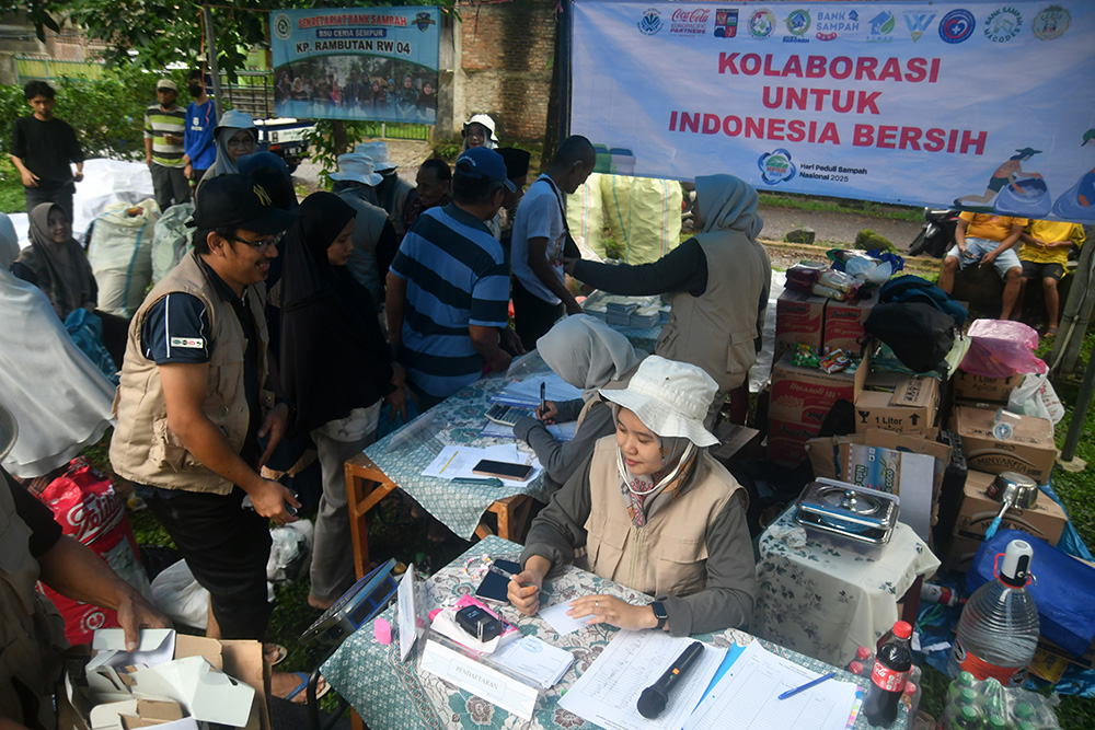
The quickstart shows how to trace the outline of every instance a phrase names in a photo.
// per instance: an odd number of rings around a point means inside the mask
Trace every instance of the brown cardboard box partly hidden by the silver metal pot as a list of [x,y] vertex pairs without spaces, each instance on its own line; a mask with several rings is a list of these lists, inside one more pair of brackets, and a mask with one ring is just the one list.
[[[984,531],[1000,513],[1002,505],[989,497],[986,490],[995,479],[994,474],[970,471],[966,476],[961,508],[955,523],[955,535],[984,540]],[[1022,530],[1035,537],[1057,545],[1069,518],[1061,506],[1046,495],[1038,495],[1038,503],[1027,509],[1010,509],[1000,522],[1000,529]]]

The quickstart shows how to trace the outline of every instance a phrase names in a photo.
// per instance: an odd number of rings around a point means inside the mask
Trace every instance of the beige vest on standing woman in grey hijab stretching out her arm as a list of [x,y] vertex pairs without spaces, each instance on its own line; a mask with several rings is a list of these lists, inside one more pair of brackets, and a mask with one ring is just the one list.
[[727,392],[745,382],[757,360],[757,308],[772,267],[764,247],[744,233],[713,231],[695,240],[707,257],[707,288],[700,297],[672,296],[654,352],[703,368]]

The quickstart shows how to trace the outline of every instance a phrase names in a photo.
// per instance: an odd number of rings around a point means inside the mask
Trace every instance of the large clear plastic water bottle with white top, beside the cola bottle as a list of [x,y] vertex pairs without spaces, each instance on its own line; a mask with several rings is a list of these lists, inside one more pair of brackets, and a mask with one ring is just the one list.
[[967,671],[1004,686],[1026,681],[1038,645],[1038,607],[1026,589],[1034,551],[1023,540],[1007,543],[996,580],[973,592],[958,621],[947,664],[952,677]]

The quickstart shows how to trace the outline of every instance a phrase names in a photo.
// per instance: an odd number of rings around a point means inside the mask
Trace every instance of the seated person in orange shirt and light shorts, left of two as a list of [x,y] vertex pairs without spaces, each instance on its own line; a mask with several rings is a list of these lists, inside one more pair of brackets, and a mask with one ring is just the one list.
[[1026,218],[1010,218],[994,213],[975,213],[964,210],[955,227],[955,245],[943,258],[940,271],[940,289],[948,294],[955,287],[955,274],[971,264],[992,264],[1004,281],[1004,294],[1000,308],[1000,318],[1012,316],[1018,301],[1023,265],[1015,246],[1019,242]]

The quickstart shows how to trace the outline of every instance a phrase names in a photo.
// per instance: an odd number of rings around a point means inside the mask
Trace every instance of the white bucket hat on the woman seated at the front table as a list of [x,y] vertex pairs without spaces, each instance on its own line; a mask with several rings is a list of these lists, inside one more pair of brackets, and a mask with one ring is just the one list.
[[703,427],[718,384],[703,371],[657,355],[643,360],[622,391],[601,389],[603,397],[634,413],[657,436],[679,436],[698,447],[718,439]]

